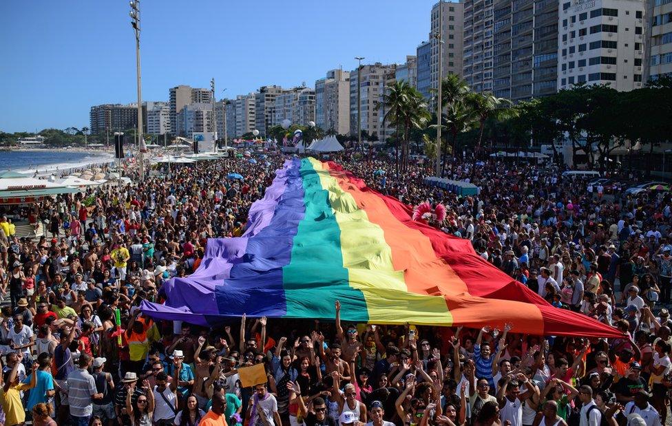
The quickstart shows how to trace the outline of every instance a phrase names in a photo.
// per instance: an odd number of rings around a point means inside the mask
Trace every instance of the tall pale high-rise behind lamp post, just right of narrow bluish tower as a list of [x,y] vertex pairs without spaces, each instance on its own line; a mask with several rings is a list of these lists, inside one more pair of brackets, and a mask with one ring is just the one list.
[[[439,7],[441,6],[441,7]],[[439,40],[436,34],[439,34],[439,21],[443,22],[443,52],[441,52],[441,62],[443,67],[441,73],[443,76],[450,74],[462,75],[462,50],[463,50],[463,23],[464,23],[464,3],[445,2],[436,3],[432,7],[432,17],[430,25],[430,44],[432,45],[432,56],[430,58],[430,85],[433,89],[439,87]],[[443,16],[439,19],[439,13]]]

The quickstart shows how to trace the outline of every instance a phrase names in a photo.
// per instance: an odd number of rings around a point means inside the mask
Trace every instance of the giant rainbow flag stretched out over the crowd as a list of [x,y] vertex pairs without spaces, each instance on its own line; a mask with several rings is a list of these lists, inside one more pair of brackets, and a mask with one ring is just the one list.
[[213,326],[240,317],[503,327],[620,337],[550,306],[476,254],[471,243],[411,219],[395,198],[333,162],[287,160],[250,209],[242,237],[210,239],[198,270],[162,287],[156,319]]

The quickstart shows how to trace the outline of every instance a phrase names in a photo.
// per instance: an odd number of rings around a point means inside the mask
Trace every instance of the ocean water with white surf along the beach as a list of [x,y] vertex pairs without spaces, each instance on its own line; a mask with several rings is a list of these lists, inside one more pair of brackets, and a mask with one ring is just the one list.
[[114,161],[111,153],[81,151],[0,151],[0,172],[58,171]]

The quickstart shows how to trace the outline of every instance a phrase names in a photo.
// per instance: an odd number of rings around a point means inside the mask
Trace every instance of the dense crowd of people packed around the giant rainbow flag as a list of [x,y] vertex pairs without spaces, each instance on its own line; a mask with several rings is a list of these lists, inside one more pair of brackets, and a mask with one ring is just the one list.
[[[206,329],[153,321],[171,277],[198,268],[208,238],[244,233],[284,156],[187,164],[143,183],[30,206],[46,236],[0,219],[3,425],[550,426],[665,424],[672,345],[669,193],[605,194],[531,164],[456,163],[479,195],[430,187],[431,164],[333,156],[411,206],[443,204],[432,226],[470,239],[554,306],[620,339],[483,328],[246,319]],[[236,174],[230,174],[236,173]],[[242,179],[238,175],[242,175]],[[242,386],[239,370],[266,380]]]

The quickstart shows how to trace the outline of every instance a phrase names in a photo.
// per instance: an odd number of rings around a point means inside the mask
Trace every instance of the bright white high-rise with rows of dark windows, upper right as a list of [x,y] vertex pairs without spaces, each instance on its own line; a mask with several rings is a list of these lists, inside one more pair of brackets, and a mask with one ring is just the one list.
[[638,89],[644,67],[642,0],[572,0],[558,11],[558,90],[576,83]]

